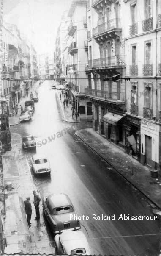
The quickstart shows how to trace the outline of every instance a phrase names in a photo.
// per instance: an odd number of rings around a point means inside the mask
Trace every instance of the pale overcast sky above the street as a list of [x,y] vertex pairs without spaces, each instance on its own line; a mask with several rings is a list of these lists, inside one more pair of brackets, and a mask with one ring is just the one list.
[[51,52],[61,15],[70,4],[71,0],[4,0],[3,20],[17,25],[38,54]]

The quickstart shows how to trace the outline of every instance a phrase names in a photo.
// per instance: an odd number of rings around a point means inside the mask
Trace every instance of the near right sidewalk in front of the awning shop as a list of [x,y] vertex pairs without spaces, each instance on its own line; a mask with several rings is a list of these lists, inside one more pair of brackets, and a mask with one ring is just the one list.
[[[152,178],[149,168],[143,166],[134,158],[132,158],[131,165],[131,157],[128,154],[97,134],[92,128],[79,130],[75,134],[105,161],[111,163],[120,175],[125,177],[161,209],[161,177],[158,179]],[[131,166],[133,166],[133,175]],[[107,168],[107,171],[110,172],[113,169],[112,167]]]

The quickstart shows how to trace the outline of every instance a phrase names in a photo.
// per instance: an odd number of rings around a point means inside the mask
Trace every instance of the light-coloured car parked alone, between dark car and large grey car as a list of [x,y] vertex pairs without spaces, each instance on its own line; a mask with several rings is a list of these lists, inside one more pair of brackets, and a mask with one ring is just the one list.
[[35,175],[41,174],[41,173],[47,173],[50,174],[51,168],[50,163],[46,156],[36,154],[31,157],[31,166],[33,173]]

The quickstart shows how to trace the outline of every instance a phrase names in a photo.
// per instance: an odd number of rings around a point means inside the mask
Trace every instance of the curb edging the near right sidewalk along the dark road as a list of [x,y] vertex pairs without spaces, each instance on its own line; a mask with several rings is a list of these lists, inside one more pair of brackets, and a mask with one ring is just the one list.
[[[81,131],[81,130],[79,130],[79,131]],[[148,199],[150,202],[152,202],[158,209],[161,210],[161,206],[159,206],[159,205],[158,205],[157,203],[155,203],[150,197],[148,197],[148,196],[145,194],[145,192],[143,192],[141,189],[138,188],[138,186],[134,185],[131,181],[129,181],[128,178],[126,178],[122,173],[120,173],[120,172],[115,168],[115,166],[114,166],[112,163],[108,162],[108,160],[105,159],[104,156],[102,156],[100,153],[98,153],[97,150],[93,149],[93,147],[91,147],[90,145],[88,145],[87,142],[85,142],[85,140],[82,139],[81,136],[79,136],[79,135],[77,134],[77,132],[78,132],[78,131],[75,132],[75,135],[76,135],[77,137],[79,137],[79,139],[81,139],[82,142],[84,142],[90,149],[92,149],[96,154],[98,154],[98,156],[100,156],[102,159],[104,159],[104,161],[105,161],[107,164],[111,165],[111,167],[112,167],[117,173],[119,173],[126,181],[128,181],[128,183],[130,183],[134,188],[136,188],[140,193],[142,193],[142,195],[144,195],[145,198],[147,198],[147,199]]]

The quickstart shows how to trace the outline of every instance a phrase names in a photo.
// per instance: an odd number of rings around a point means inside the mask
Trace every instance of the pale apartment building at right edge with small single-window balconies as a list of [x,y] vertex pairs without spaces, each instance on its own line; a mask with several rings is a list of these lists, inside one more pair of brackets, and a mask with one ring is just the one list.
[[[152,168],[161,159],[161,1],[124,0],[126,148]],[[127,138],[130,136],[130,140]]]

